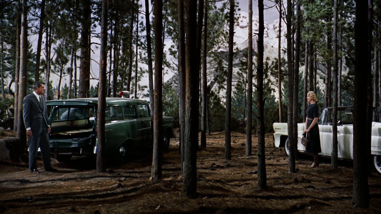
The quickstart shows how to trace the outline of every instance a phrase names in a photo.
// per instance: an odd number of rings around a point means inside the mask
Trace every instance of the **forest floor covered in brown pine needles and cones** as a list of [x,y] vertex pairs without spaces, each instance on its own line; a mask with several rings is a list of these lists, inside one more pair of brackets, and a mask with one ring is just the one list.
[[[179,136],[178,133],[176,136]],[[253,155],[245,155],[246,135],[233,132],[232,160],[224,159],[224,132],[207,136],[207,147],[197,151],[197,198],[182,197],[178,139],[164,153],[163,177],[150,181],[152,155],[136,152],[128,163],[96,172],[94,158],[74,157],[52,166],[59,171],[32,174],[27,163],[0,162],[0,213],[381,213],[381,176],[369,177],[370,208],[352,205],[353,167],[321,158],[311,168],[312,157],[296,161],[297,172],[288,173],[288,158],[275,149],[266,134],[266,190],[258,190],[257,137]]]

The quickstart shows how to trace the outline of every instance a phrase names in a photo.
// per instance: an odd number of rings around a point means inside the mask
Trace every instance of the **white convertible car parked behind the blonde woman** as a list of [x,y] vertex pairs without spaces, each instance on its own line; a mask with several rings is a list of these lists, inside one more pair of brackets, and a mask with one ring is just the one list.
[[[332,113],[333,107],[323,110],[319,118],[320,144],[322,152],[319,155],[331,157],[332,152]],[[338,158],[353,160],[353,107],[338,107]],[[298,123],[298,151],[306,153],[306,147],[301,144],[305,123]],[[274,123],[274,144],[275,147],[285,147],[285,153],[288,155],[288,131],[287,123]],[[372,122],[372,142],[371,154],[375,171],[381,174],[381,123]]]

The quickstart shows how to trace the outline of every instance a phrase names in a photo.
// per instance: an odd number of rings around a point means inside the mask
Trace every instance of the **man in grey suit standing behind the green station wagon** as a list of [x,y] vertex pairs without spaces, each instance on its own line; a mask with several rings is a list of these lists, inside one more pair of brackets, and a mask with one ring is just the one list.
[[24,97],[23,103],[24,123],[29,137],[29,169],[32,173],[40,173],[36,163],[40,146],[45,171],[56,172],[57,169],[50,165],[50,124],[45,96],[41,96],[45,86],[42,82],[34,82],[33,88],[33,93]]

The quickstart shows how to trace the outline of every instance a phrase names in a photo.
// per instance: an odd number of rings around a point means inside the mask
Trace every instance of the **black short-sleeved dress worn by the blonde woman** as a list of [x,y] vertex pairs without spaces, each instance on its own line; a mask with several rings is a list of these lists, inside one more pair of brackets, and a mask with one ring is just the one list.
[[[317,108],[317,104],[310,104],[306,110],[307,118],[314,120],[314,118],[318,117],[319,109]],[[312,120],[307,119],[307,128],[311,125]],[[322,152],[322,148],[320,147],[320,133],[319,126],[317,123],[314,127],[309,131],[309,142],[306,147],[306,152],[308,153],[319,153]]]

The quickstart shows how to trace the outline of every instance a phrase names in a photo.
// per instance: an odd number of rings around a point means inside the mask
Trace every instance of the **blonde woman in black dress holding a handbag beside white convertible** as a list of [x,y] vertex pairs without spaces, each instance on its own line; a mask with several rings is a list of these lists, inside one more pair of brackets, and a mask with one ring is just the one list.
[[314,162],[311,164],[311,167],[316,167],[319,166],[317,157],[319,152],[322,152],[322,148],[320,147],[319,126],[317,125],[319,109],[317,108],[316,102],[318,99],[313,91],[307,93],[307,101],[309,105],[306,110],[307,117],[304,133],[309,133],[309,142],[306,147],[306,152],[314,154]]

